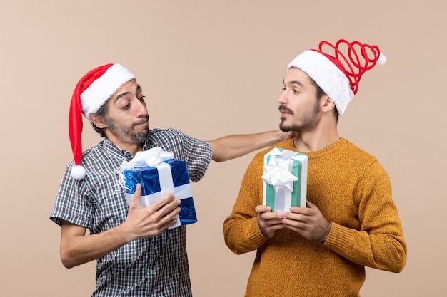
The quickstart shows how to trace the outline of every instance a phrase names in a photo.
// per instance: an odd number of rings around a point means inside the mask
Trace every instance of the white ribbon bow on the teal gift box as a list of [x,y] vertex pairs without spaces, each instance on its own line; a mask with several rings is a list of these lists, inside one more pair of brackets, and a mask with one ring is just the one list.
[[291,172],[293,161],[290,159],[279,159],[276,155],[271,155],[268,164],[264,168],[264,174],[261,178],[271,184],[275,192],[279,189],[288,189],[293,191],[293,182],[298,180],[298,177]]

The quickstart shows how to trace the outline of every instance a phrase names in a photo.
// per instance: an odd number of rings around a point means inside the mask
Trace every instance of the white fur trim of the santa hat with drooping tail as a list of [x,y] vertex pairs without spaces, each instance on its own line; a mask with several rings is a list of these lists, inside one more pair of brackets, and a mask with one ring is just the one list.
[[89,88],[81,93],[82,113],[89,120],[91,113],[96,113],[101,106],[121,88],[124,83],[133,80],[135,76],[120,64],[114,64],[97,78]]

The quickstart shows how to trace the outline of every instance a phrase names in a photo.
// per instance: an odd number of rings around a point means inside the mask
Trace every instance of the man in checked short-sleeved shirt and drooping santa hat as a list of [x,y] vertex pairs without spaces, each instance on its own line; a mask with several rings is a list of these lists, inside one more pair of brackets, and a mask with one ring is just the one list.
[[[85,152],[82,115],[104,137]],[[167,194],[141,207],[138,186],[128,206],[119,182],[124,160],[161,147],[185,160],[191,181],[197,182],[211,160],[240,157],[288,136],[276,130],[203,141],[175,129],[149,130],[142,89],[119,64],[99,66],[79,80],[71,98],[69,134],[74,161],[66,168],[50,219],[61,226],[64,266],[96,260],[92,296],[191,296],[186,229],[169,229],[180,200]]]

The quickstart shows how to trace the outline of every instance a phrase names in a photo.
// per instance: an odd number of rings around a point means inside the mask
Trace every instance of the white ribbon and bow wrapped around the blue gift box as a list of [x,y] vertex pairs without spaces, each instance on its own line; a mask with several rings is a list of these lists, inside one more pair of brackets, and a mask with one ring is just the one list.
[[[176,199],[185,199],[192,197],[191,184],[182,184],[179,187],[174,188],[174,182],[172,180],[171,166],[164,161],[170,160],[174,157],[172,152],[166,152],[161,150],[161,147],[152,147],[150,150],[136,152],[135,156],[129,162],[123,162],[120,167],[120,172],[124,170],[132,170],[139,167],[156,167],[159,173],[160,192],[141,196],[140,204],[143,207],[147,207],[164,195],[174,193]],[[125,184],[124,175],[121,173],[121,183]],[[130,204],[134,198],[134,194],[125,193],[126,202]],[[180,226],[180,219],[177,215],[177,223],[170,228]]]

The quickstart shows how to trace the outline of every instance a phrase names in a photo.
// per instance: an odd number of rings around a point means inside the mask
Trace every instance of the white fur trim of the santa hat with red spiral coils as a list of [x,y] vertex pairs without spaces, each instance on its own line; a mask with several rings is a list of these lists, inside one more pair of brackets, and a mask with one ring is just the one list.
[[304,51],[288,63],[291,67],[301,69],[309,75],[317,85],[336,103],[338,114],[342,115],[354,93],[345,73],[331,60],[317,51]]

